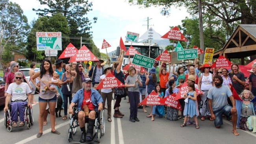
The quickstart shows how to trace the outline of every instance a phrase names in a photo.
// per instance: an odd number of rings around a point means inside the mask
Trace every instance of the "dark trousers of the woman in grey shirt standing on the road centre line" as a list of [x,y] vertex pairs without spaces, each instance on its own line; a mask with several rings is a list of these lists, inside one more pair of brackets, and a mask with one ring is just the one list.
[[130,118],[136,118],[138,113],[139,92],[129,92]]

